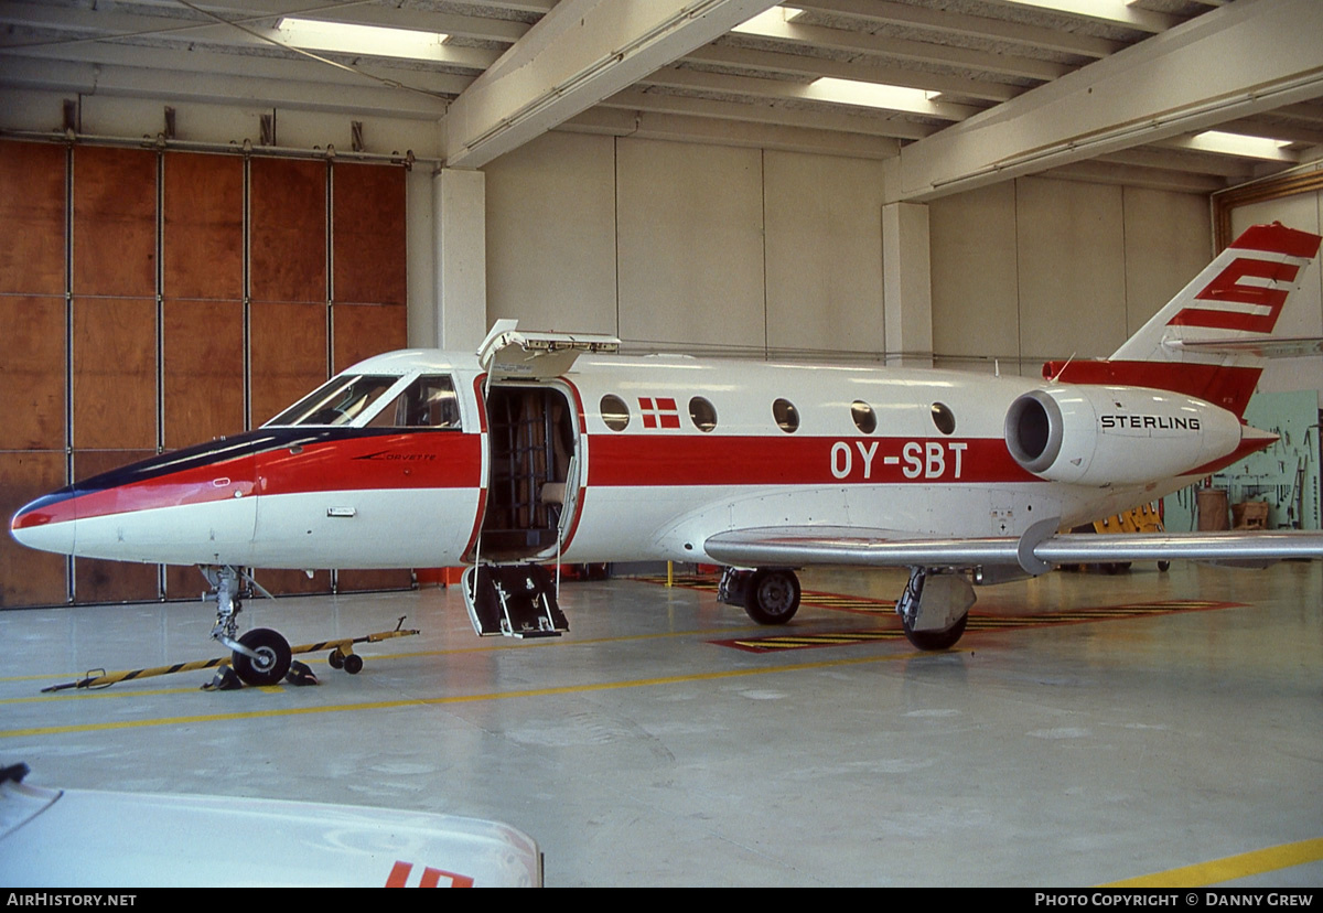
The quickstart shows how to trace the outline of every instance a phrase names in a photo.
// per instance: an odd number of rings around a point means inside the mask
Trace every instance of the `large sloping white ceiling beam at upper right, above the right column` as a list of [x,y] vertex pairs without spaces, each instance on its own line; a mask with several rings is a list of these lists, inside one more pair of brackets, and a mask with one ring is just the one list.
[[901,150],[889,200],[933,200],[1323,93],[1323,4],[1241,0]]

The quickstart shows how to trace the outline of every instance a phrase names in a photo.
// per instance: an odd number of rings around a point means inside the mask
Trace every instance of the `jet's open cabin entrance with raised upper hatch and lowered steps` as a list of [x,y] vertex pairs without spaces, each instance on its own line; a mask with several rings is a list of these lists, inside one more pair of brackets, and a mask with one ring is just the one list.
[[557,378],[582,352],[618,347],[607,336],[523,333],[501,320],[478,351],[487,372],[488,475],[464,598],[482,635],[548,636],[569,629],[550,574],[533,564],[560,554],[582,474],[576,409]]

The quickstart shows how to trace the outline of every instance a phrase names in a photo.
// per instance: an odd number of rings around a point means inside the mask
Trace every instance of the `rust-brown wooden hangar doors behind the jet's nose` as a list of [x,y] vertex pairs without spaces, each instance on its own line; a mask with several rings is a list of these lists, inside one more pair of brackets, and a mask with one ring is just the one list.
[[[0,319],[22,339],[0,381],[25,404],[0,430],[7,507],[261,425],[333,363],[405,345],[404,169],[335,171],[332,206],[325,161],[0,142],[0,217],[22,226],[0,251]],[[0,566],[50,573],[0,578],[0,605],[160,595],[156,568],[78,561],[70,580],[74,562],[20,548],[4,537]],[[193,570],[164,581],[171,597],[201,586]]]

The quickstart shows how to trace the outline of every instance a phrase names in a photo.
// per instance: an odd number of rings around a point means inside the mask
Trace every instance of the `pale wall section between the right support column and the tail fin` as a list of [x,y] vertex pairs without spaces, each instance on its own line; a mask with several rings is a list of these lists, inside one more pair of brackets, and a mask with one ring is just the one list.
[[929,206],[943,367],[1105,357],[1212,259],[1208,197],[1050,177]]

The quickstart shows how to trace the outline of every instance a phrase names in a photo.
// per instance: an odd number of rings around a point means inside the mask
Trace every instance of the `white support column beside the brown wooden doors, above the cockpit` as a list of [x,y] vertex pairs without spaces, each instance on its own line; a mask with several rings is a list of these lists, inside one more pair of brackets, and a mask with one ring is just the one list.
[[476,349],[487,335],[487,183],[480,171],[433,177],[437,341]]

